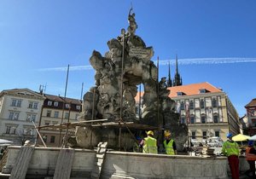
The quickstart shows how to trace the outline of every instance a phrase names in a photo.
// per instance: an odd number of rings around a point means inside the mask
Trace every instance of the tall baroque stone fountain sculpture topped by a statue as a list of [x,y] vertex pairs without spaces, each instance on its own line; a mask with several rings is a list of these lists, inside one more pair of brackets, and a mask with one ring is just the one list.
[[[188,130],[178,123],[175,102],[168,97],[166,78],[158,82],[158,69],[151,61],[153,47],[147,47],[143,39],[135,34],[135,14],[128,14],[127,32],[121,30],[117,38],[108,41],[108,52],[102,55],[94,50],[90,65],[95,69],[95,86],[84,94],[83,110],[79,121],[108,118],[108,122],[133,122],[158,127],[155,137],[162,141],[163,130],[171,130],[177,149],[183,149]],[[137,85],[143,84],[142,115],[137,118],[135,97]],[[111,126],[92,128],[77,127],[73,147],[96,147],[100,141],[108,141],[108,147],[131,151],[134,136],[145,134],[145,130],[122,130]],[[134,136],[131,135],[134,134]],[[120,136],[119,136],[120,135]],[[119,140],[121,139],[121,140]],[[119,148],[120,149],[120,148]]]

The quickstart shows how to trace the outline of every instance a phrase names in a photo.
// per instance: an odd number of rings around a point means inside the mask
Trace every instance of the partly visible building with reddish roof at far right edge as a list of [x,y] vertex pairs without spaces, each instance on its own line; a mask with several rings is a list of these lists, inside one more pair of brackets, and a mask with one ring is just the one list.
[[248,135],[256,135],[256,98],[250,101],[245,108],[247,109],[248,118]]

